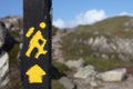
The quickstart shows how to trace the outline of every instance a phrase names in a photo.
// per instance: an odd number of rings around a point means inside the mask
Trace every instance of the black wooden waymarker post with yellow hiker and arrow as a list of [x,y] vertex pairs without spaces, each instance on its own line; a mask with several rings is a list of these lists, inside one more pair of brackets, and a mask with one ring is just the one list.
[[23,0],[23,89],[51,89],[51,4],[52,0]]

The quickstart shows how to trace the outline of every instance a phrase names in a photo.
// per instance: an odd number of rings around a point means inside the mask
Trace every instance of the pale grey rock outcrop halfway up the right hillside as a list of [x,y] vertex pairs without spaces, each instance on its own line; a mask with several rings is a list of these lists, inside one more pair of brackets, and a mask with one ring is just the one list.
[[[88,39],[91,57],[111,59],[116,56],[119,59],[129,61],[133,58],[133,39],[120,38],[113,34],[99,34]],[[96,52],[96,55],[95,55]]]

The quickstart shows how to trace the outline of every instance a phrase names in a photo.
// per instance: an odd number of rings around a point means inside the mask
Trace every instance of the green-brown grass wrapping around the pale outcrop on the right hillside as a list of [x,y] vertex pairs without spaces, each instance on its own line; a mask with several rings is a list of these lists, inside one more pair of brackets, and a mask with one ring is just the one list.
[[[116,55],[113,59],[102,59],[102,58],[92,58],[90,55],[92,50],[90,49],[88,42],[89,38],[95,38],[99,32],[104,37],[108,37],[108,33],[112,36],[117,36],[121,38],[133,38],[133,17],[122,16],[108,18],[103,21],[96,22],[91,26],[79,26],[74,28],[72,33],[69,33],[66,37],[63,37],[63,57],[65,60],[76,60],[83,58],[84,65],[93,65],[98,70],[108,70],[117,66],[132,66],[133,62],[122,61],[117,59]],[[125,31],[129,29],[129,31]],[[109,38],[110,39],[110,38]],[[94,52],[94,51],[93,51]],[[95,50],[95,52],[100,52]],[[103,53],[103,52],[100,52]]]

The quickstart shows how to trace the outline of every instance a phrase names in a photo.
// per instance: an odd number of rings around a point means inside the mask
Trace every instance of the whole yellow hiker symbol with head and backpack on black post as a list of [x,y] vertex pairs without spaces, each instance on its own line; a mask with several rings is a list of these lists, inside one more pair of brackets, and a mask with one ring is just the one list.
[[[40,22],[39,27],[41,29],[44,29],[45,28],[45,23],[44,22]],[[34,31],[34,27],[31,27],[25,37],[29,38]],[[38,49],[38,52],[35,53],[35,58],[38,59],[40,55],[45,55],[48,51],[44,50],[44,46],[47,43],[47,39],[43,38],[41,31],[37,31],[33,37],[31,38],[30,40],[30,43],[29,43],[29,48],[25,52],[25,56],[30,57],[31,52],[33,51],[33,49]]]

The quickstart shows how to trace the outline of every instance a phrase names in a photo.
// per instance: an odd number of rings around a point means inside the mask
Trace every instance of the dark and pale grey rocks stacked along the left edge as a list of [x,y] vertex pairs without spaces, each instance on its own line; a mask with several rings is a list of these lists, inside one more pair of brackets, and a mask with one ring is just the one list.
[[6,43],[7,29],[0,22],[0,88],[9,81],[9,55],[3,49]]

